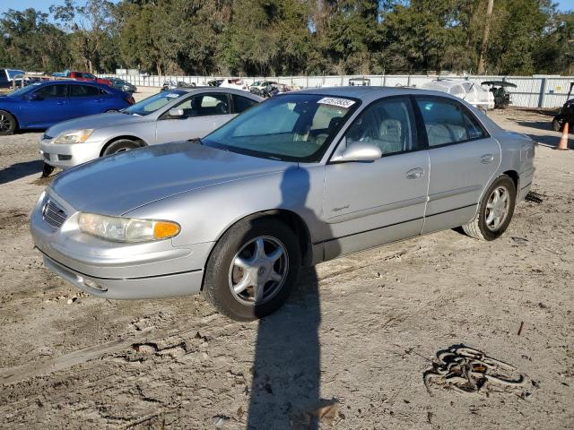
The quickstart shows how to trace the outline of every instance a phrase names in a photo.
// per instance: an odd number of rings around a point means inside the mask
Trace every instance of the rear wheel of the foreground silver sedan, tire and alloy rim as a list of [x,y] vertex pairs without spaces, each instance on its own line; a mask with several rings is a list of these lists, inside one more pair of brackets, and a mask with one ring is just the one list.
[[476,217],[463,226],[466,235],[480,240],[497,239],[509,227],[516,204],[516,187],[507,175],[496,178],[484,193]]

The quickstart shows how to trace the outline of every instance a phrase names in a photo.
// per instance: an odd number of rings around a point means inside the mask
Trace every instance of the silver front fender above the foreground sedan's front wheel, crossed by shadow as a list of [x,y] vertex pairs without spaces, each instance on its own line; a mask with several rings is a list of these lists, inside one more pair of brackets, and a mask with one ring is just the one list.
[[298,168],[208,185],[146,204],[124,216],[169,219],[181,226],[173,245],[217,242],[233,224],[273,210],[297,214],[309,228],[313,243],[325,239],[323,179],[325,167]]

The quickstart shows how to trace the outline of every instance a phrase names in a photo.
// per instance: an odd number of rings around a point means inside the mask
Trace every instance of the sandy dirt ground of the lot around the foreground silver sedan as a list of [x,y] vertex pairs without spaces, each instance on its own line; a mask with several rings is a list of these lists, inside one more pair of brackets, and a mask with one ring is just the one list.
[[[491,243],[444,231],[320,264],[259,323],[50,273],[28,228],[40,133],[0,137],[0,427],[317,428],[317,412],[320,428],[574,428],[574,151],[552,150],[547,112],[490,115],[544,143],[542,203]],[[431,395],[423,373],[457,344],[526,383]]]

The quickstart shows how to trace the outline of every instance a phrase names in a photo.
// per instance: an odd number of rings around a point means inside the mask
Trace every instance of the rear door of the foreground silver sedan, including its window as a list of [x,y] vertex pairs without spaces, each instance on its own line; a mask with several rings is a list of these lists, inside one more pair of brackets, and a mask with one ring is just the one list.
[[500,145],[462,103],[416,97],[431,159],[423,233],[474,218],[483,189],[500,166]]

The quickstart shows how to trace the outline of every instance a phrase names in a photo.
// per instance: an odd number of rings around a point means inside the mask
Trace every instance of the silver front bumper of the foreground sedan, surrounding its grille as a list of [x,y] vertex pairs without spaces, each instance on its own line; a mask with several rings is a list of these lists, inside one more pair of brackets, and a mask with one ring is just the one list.
[[61,228],[44,219],[42,195],[30,216],[34,245],[49,270],[77,288],[108,298],[171,297],[199,293],[213,243],[174,246],[171,240],[119,244],[80,232],[78,212],[52,191],[67,218]]

